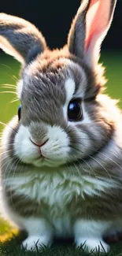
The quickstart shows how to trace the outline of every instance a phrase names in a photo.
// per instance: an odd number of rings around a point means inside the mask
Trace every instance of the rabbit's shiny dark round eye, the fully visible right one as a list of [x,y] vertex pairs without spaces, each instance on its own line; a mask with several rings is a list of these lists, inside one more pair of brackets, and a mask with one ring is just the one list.
[[80,121],[83,117],[81,103],[79,101],[72,101],[68,105],[68,120],[69,121]]

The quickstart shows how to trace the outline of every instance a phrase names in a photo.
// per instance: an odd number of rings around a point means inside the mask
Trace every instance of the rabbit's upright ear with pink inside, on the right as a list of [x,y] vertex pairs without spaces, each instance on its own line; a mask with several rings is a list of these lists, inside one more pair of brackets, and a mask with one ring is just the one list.
[[68,35],[68,50],[92,69],[113,20],[116,0],[83,0]]

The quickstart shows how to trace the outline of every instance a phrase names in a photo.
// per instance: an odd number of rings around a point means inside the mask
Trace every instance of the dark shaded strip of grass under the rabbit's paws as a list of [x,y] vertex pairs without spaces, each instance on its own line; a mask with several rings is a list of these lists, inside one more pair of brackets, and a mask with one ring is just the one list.
[[[72,240],[55,240],[52,247],[42,247],[40,250],[27,251],[20,247],[22,241],[27,237],[25,232],[15,231],[0,237],[0,256],[122,256],[122,243],[113,244],[109,253],[88,253],[83,248],[76,249]],[[2,238],[2,239],[1,239]]]

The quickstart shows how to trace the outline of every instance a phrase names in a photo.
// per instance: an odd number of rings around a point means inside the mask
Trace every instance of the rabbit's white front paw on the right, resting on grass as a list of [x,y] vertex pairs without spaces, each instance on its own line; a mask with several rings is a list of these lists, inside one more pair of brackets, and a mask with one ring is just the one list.
[[83,247],[89,252],[91,251],[100,251],[100,252],[108,252],[109,245],[104,241],[100,241],[99,239],[77,239],[76,247]]

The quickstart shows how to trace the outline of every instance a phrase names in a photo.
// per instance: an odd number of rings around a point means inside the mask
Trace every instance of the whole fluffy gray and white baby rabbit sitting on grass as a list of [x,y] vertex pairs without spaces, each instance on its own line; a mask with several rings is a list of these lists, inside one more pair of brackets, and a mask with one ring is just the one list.
[[21,63],[20,106],[2,133],[2,214],[28,233],[27,250],[56,237],[109,251],[104,237],[122,227],[122,116],[98,64],[115,7],[83,0],[61,50],[0,14],[2,50]]

